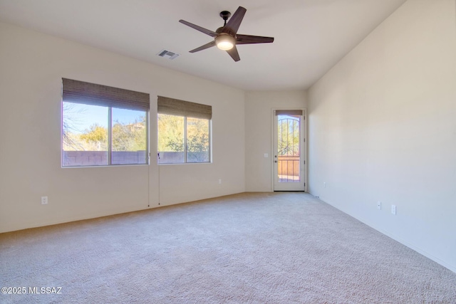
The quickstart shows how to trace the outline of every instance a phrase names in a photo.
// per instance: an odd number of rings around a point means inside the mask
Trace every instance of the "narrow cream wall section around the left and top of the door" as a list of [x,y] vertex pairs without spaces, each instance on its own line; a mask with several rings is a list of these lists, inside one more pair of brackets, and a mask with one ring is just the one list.
[[246,191],[272,192],[272,109],[306,108],[306,91],[247,92],[245,100]]

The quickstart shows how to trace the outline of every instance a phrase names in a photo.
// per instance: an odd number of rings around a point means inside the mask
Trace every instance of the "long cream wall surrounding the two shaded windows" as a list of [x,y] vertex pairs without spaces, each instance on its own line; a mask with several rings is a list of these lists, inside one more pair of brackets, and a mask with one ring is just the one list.
[[[0,41],[0,232],[244,192],[244,91],[6,23]],[[150,166],[62,169],[61,78],[150,93]],[[212,105],[212,164],[157,166],[157,95]]]

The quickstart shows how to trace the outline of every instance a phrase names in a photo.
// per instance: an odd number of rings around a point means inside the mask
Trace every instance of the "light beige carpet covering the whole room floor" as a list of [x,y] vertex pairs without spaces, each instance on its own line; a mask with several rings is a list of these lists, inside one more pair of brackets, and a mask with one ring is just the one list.
[[456,303],[456,273],[305,193],[0,234],[0,267],[26,287],[0,303]]

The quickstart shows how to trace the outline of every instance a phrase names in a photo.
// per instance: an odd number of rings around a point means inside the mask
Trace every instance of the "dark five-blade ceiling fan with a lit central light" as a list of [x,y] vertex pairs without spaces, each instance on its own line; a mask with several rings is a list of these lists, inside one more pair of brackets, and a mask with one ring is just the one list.
[[271,43],[274,41],[273,37],[261,37],[261,36],[250,36],[250,35],[241,35],[237,33],[239,26],[241,25],[242,19],[244,18],[245,12],[247,9],[244,9],[242,6],[234,12],[233,16],[227,22],[231,13],[229,11],[222,11],[220,16],[224,20],[224,26],[217,28],[216,31],[210,31],[207,28],[202,28],[193,23],[187,22],[185,20],[180,20],[180,23],[184,23],[186,26],[195,28],[195,30],[205,33],[209,36],[214,37],[214,41],[211,41],[204,46],[199,46],[190,51],[190,53],[195,53],[198,51],[205,50],[206,48],[211,48],[212,46],[217,46],[217,48],[227,51],[229,56],[233,58],[234,61],[240,61],[239,53],[237,52],[237,44],[252,44],[252,43]]

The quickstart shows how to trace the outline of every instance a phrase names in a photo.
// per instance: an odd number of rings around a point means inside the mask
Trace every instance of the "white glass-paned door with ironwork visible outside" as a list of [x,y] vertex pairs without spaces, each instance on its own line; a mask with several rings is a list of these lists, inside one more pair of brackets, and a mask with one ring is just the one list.
[[274,110],[274,191],[304,191],[304,111]]

